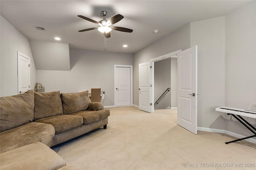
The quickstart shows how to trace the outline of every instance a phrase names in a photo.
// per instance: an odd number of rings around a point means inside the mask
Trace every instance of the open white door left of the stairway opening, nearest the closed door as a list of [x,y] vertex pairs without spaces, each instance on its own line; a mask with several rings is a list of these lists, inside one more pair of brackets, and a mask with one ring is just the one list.
[[139,64],[139,109],[151,112],[150,105],[150,62]]

